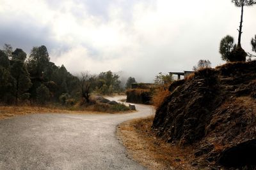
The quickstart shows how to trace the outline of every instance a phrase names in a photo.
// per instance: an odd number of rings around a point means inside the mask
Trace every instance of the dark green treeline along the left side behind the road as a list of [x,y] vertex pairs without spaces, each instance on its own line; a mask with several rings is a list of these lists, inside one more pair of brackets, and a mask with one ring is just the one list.
[[44,45],[33,47],[28,57],[22,49],[13,51],[12,46],[4,45],[0,50],[0,103],[74,104],[84,97],[84,89],[89,97],[93,91],[111,94],[123,90],[119,76],[111,71],[86,76],[74,76],[65,66],[56,66]]

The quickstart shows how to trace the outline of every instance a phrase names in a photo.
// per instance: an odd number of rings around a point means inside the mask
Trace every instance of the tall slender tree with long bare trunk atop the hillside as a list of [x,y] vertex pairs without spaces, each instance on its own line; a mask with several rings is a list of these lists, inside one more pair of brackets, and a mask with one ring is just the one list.
[[241,18],[240,18],[240,25],[238,31],[238,43],[237,47],[241,47],[241,35],[242,35],[242,27],[243,27],[243,13],[244,13],[244,6],[252,6],[253,4],[256,4],[255,0],[232,0],[232,3],[234,3],[237,7],[241,7]]

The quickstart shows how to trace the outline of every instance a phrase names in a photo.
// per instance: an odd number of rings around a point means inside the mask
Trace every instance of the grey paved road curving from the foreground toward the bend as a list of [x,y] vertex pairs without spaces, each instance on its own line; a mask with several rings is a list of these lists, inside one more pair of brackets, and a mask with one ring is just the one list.
[[127,158],[116,125],[153,114],[34,114],[0,120],[0,169],[145,169]]

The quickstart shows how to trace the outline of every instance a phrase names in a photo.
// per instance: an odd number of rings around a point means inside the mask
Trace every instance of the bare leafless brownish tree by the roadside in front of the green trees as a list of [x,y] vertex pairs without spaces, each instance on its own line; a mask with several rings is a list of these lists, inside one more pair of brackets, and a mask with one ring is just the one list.
[[95,81],[95,78],[88,71],[81,73],[81,77],[80,77],[81,96],[86,100],[87,103],[90,102],[90,94],[92,92],[93,81]]

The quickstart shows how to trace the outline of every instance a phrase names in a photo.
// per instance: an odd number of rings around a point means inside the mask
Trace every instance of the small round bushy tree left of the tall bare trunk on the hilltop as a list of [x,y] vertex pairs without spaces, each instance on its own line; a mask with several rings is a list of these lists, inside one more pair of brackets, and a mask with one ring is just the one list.
[[230,61],[231,59],[231,53],[236,48],[236,45],[234,45],[234,38],[232,36],[225,36],[220,41],[220,54],[221,59]]

